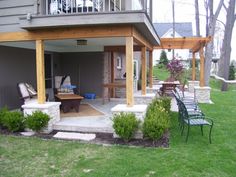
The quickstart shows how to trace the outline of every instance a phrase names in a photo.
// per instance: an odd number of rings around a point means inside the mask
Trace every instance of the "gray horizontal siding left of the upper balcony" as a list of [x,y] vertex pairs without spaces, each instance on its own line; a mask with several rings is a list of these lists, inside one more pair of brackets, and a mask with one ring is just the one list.
[[20,31],[19,17],[37,14],[37,0],[0,0],[0,32]]

